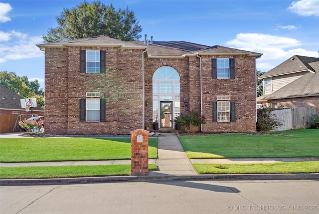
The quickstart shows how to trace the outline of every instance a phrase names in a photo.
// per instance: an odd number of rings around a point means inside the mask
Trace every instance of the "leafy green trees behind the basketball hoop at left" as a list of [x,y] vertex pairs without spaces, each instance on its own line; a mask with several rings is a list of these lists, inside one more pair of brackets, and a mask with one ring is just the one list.
[[39,95],[43,92],[43,89],[40,89],[38,80],[29,82],[27,76],[19,77],[14,72],[1,71],[0,84],[21,97],[36,98],[37,106],[44,108],[43,97]]

